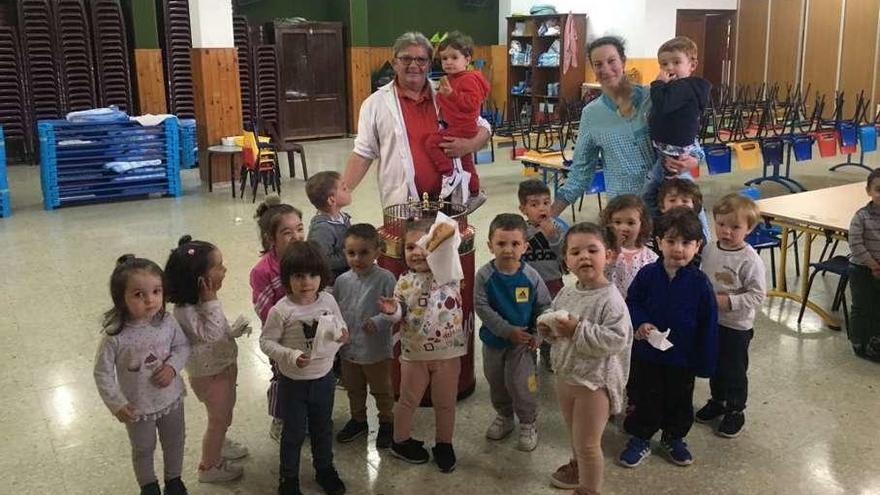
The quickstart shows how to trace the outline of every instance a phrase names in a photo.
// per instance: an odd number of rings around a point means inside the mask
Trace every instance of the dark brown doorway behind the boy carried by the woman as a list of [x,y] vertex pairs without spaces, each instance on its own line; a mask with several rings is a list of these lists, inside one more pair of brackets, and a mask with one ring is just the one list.
[[699,63],[695,76],[713,86],[730,86],[736,54],[736,10],[690,10],[676,12],[675,35],[697,44]]

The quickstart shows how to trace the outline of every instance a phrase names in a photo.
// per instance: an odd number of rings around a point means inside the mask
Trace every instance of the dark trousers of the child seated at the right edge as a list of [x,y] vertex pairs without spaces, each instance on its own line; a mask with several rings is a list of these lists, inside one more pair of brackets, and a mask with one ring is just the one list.
[[847,335],[856,352],[880,360],[880,278],[862,265],[849,265],[852,309]]

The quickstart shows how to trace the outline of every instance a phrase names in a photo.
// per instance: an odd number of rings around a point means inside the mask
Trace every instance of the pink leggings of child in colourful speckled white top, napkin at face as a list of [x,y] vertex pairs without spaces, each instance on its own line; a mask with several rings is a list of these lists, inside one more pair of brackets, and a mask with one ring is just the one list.
[[452,443],[455,430],[455,400],[458,396],[458,375],[461,358],[431,361],[400,361],[400,399],[394,406],[394,441],[410,437],[413,414],[428,385],[431,386],[431,404],[437,443]]

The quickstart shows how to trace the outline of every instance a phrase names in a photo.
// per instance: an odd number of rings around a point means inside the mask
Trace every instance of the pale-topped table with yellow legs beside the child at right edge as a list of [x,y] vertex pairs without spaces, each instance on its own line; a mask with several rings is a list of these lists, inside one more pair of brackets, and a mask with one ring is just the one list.
[[[768,291],[767,295],[802,303],[807,294],[813,240],[817,237],[825,237],[846,241],[849,235],[850,221],[856,211],[868,203],[868,196],[865,194],[865,183],[857,182],[845,186],[762,199],[757,203],[761,208],[761,215],[765,219],[782,227],[776,287]],[[789,292],[785,280],[789,236],[797,232],[801,232],[805,239],[804,253],[801,257],[800,293]],[[807,300],[806,306],[818,314],[828,326],[840,328],[837,319],[816,303]]]

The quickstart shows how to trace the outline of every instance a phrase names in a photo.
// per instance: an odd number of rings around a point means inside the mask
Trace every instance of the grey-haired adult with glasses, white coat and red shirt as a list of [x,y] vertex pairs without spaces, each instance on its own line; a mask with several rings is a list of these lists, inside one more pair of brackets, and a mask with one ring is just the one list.
[[[408,32],[394,42],[394,80],[361,104],[358,135],[342,180],[357,187],[374,160],[379,161],[378,182],[382,206],[405,203],[428,193],[439,196],[442,177],[432,165],[425,139],[437,132],[437,92],[428,81],[433,48],[422,33]],[[451,157],[473,153],[486,144],[491,127],[479,118],[473,138],[447,137],[440,146]],[[476,177],[473,165],[470,172]],[[472,183],[473,187],[473,183]],[[473,211],[485,196],[472,197]]]

